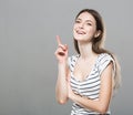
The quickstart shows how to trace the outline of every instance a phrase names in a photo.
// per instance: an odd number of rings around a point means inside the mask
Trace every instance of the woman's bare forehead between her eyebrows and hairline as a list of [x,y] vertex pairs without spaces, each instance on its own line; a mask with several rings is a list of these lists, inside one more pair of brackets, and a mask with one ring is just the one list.
[[81,20],[84,20],[84,21],[89,20],[89,21],[95,22],[94,17],[89,12],[82,12],[76,19],[81,19]]

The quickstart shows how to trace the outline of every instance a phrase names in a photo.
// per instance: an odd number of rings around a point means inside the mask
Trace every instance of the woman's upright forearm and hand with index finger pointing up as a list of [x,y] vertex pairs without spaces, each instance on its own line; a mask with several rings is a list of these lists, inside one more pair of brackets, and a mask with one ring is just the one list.
[[57,35],[58,49],[55,51],[55,56],[58,60],[58,80],[55,86],[57,101],[60,104],[64,104],[68,101],[68,46],[61,43],[60,36]]

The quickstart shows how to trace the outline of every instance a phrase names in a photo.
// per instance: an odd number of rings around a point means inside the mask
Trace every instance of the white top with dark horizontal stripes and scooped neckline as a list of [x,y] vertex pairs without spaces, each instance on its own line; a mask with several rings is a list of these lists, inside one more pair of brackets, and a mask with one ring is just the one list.
[[[91,71],[91,73],[88,75],[88,77],[84,81],[78,81],[74,75],[74,66],[78,61],[80,55],[72,55],[69,58],[69,67],[71,71],[71,86],[74,93],[89,97],[91,100],[99,100],[100,95],[100,85],[101,85],[101,73],[103,70],[109,65],[109,63],[113,61],[112,56],[109,55],[108,53],[101,53],[96,61],[95,64]],[[73,103],[72,105],[72,111],[71,115],[98,115],[100,113],[96,113],[91,109],[86,109],[76,103]],[[110,111],[106,113],[108,115],[110,114]]]

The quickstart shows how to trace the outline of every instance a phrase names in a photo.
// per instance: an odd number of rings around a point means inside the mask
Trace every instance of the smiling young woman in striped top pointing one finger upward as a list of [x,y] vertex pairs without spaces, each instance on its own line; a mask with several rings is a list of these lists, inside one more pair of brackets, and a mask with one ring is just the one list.
[[60,104],[73,101],[71,115],[110,115],[113,91],[120,84],[120,66],[114,54],[103,49],[104,25],[99,12],[80,11],[73,36],[78,54],[72,56],[57,36],[57,100]]

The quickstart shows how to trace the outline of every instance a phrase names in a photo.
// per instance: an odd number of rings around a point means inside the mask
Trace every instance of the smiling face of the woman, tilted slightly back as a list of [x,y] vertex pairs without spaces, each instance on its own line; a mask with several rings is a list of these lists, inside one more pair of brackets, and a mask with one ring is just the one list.
[[73,27],[74,39],[81,42],[89,42],[96,34],[96,22],[89,12],[81,13]]

